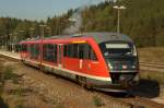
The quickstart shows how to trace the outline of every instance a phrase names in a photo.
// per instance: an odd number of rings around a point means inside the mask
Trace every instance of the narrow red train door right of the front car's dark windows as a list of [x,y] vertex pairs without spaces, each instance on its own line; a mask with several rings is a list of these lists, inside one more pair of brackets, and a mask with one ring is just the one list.
[[62,51],[62,49],[63,49],[62,47],[63,47],[62,44],[59,44],[59,45],[58,45],[58,67],[59,67],[59,68],[62,68],[62,56],[63,56],[63,55],[62,55],[62,52],[63,52],[63,51]]

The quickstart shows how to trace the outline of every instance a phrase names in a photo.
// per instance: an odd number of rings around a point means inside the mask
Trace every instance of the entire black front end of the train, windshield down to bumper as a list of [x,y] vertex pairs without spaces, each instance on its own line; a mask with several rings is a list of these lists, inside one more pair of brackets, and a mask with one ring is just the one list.
[[127,91],[139,83],[139,59],[134,44],[121,38],[104,40],[99,49],[112,79],[109,88]]

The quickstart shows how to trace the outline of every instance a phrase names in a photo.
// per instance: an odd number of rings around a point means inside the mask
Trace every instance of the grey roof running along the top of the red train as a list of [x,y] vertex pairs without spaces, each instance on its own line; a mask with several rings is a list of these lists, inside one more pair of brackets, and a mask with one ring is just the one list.
[[[68,39],[68,38],[77,38],[77,37],[92,37],[96,40],[97,44],[101,44],[103,41],[110,41],[110,40],[122,40],[122,41],[130,41],[133,43],[127,35],[118,34],[118,33],[82,33],[82,34],[75,34],[75,35],[59,35],[59,36],[51,36],[46,37],[44,39]],[[38,37],[26,39],[23,41],[34,41],[39,40]]]

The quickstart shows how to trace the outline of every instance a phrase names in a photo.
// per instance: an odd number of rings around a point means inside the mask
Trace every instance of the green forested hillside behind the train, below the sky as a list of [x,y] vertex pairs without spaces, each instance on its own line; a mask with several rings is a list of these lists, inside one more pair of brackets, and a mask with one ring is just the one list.
[[115,5],[126,7],[120,10],[121,34],[130,36],[138,47],[164,46],[164,0],[108,0],[70,9],[46,21],[0,17],[0,45],[16,44],[43,34],[49,37],[83,32],[117,32]]

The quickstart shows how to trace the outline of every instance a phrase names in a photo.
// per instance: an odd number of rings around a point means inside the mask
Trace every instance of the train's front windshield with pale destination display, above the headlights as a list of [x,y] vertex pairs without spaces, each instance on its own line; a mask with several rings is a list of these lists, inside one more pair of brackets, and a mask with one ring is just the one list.
[[137,57],[136,47],[132,43],[105,41],[99,44],[99,48],[105,58]]

